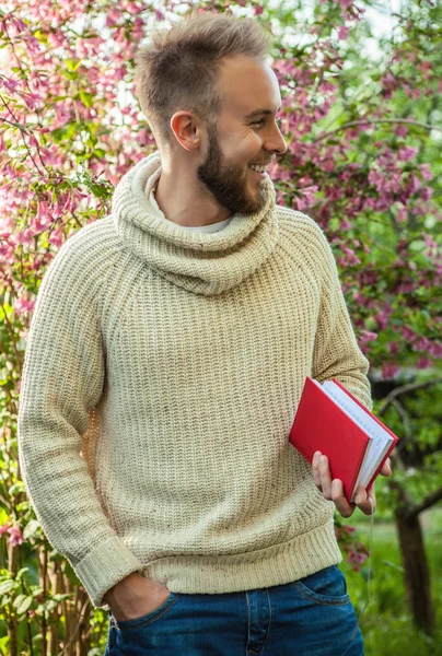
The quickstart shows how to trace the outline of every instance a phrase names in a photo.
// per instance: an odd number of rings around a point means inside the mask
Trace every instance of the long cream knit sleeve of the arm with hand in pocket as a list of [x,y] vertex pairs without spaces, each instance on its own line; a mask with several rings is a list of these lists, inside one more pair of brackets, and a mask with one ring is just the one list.
[[19,458],[48,540],[101,606],[106,590],[143,567],[109,525],[80,455],[88,411],[102,394],[105,355],[94,262],[86,261],[88,249],[78,256],[79,234],[61,247],[39,288],[21,382]]

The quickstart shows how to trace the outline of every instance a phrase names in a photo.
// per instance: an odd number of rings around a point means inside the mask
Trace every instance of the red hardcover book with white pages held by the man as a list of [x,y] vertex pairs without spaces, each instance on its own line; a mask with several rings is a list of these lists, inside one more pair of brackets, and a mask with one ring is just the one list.
[[317,450],[327,456],[348,501],[359,485],[370,488],[397,440],[336,378],[306,378],[289,441],[310,462]]

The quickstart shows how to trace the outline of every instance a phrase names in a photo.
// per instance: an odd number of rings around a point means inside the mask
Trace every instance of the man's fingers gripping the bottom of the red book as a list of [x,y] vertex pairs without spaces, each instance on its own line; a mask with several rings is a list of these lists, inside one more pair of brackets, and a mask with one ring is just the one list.
[[[342,481],[339,479],[332,480],[327,456],[324,456],[321,452],[315,452],[312,466],[316,488],[324,494],[325,499],[334,502],[342,517],[351,517],[357,507],[365,515],[374,513],[376,508],[374,484],[368,490],[359,485],[354,495],[354,503],[349,503],[344,494]],[[380,473],[382,476],[391,476],[392,467],[389,458],[385,460]]]

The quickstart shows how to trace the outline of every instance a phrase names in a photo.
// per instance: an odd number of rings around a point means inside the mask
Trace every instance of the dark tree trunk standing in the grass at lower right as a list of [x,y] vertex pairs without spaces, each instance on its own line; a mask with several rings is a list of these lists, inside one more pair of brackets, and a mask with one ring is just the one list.
[[434,609],[419,515],[412,514],[407,505],[399,506],[395,515],[409,608],[416,626],[432,635]]

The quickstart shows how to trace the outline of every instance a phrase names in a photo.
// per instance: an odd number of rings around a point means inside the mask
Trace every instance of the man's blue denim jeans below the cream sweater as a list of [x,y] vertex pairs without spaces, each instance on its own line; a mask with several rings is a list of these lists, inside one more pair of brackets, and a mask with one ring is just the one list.
[[105,656],[363,656],[334,565],[300,581],[222,595],[171,593],[136,620],[111,614]]

